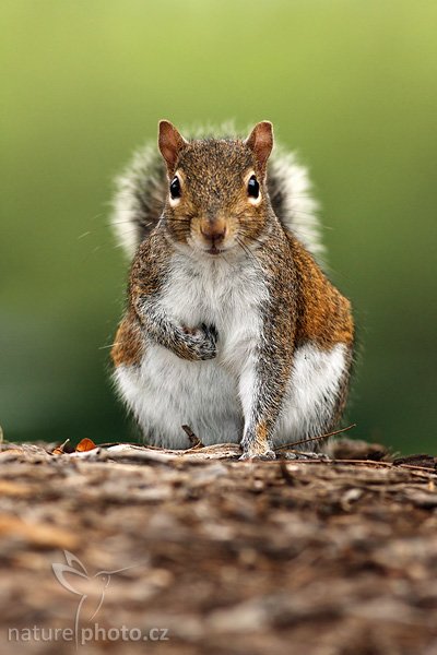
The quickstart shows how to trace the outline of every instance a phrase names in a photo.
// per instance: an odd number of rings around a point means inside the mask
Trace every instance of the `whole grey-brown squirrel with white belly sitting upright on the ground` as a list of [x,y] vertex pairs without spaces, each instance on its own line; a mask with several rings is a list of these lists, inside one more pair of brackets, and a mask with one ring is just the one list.
[[113,222],[134,254],[114,379],[154,445],[188,448],[186,424],[274,458],[342,416],[351,303],[323,273],[306,169],[272,148],[269,121],[186,140],[162,120],[161,155],[147,146],[118,179]]

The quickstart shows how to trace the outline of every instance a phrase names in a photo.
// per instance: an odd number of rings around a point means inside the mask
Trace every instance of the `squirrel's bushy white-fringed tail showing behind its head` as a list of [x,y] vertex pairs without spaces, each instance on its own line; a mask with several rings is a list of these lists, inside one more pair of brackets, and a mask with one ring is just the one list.
[[[217,138],[213,129],[198,131],[193,138]],[[227,132],[226,136],[229,136]],[[285,231],[293,234],[323,264],[318,203],[311,195],[307,169],[293,153],[277,144],[269,159],[268,189],[273,210]],[[156,145],[147,144],[133,155],[116,180],[113,225],[118,241],[129,257],[155,227],[168,191],[164,160]]]

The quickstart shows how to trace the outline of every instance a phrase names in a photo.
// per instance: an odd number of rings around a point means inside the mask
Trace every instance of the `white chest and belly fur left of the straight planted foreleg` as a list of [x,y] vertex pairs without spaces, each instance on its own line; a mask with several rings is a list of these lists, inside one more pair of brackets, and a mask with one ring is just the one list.
[[160,445],[188,448],[187,424],[205,444],[237,442],[243,432],[238,374],[259,340],[268,295],[252,261],[172,262],[160,305],[178,325],[213,324],[217,356],[188,361],[147,340],[139,368],[119,367],[116,380],[145,437]]

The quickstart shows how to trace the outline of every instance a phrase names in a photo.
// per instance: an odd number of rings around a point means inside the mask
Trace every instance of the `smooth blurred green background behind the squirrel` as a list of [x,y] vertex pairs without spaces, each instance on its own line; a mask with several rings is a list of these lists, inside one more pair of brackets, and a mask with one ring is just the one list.
[[135,434],[109,377],[114,175],[160,118],[268,118],[310,167],[355,306],[354,433],[435,453],[436,25],[420,0],[3,0],[5,437]]

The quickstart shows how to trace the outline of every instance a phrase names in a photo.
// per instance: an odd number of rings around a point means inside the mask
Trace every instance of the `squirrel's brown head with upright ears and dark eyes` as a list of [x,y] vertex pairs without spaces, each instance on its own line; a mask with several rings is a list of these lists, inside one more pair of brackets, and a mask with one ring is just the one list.
[[172,238],[206,255],[256,245],[272,215],[265,184],[272,123],[257,123],[245,141],[189,142],[162,120],[158,146],[167,166],[163,218]]

